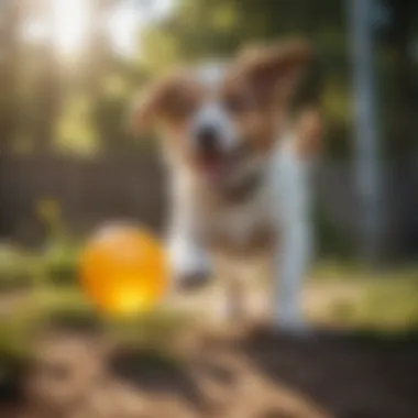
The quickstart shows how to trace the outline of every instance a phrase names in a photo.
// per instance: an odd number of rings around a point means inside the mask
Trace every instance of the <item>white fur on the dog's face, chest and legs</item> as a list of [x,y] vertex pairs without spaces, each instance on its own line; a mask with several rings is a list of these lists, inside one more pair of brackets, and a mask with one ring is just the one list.
[[[205,67],[201,82],[216,86],[222,77],[221,66]],[[213,87],[215,88],[215,87]],[[234,133],[228,116],[216,103],[202,105],[193,123],[211,123],[221,128],[224,147],[233,145]],[[288,329],[304,327],[301,289],[312,255],[310,222],[309,158],[297,152],[297,132],[277,132],[274,151],[261,164],[253,162],[246,170],[260,169],[262,182],[250,199],[205,213],[198,179],[180,163],[170,161],[173,212],[169,229],[169,254],[176,277],[193,276],[210,270],[212,254],[199,241],[198,231],[206,226],[222,230],[232,243],[249,239],[258,227],[268,226],[279,237],[272,252],[275,323]],[[242,175],[245,175],[244,173]],[[234,292],[230,295],[232,311]]]

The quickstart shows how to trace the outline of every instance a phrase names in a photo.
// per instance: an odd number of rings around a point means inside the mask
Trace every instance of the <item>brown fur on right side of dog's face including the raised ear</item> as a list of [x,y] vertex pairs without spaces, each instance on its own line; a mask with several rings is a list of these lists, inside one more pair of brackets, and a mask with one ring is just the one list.
[[232,65],[223,101],[239,136],[257,152],[268,151],[280,129],[287,128],[289,99],[310,57],[309,45],[289,41],[245,48]]

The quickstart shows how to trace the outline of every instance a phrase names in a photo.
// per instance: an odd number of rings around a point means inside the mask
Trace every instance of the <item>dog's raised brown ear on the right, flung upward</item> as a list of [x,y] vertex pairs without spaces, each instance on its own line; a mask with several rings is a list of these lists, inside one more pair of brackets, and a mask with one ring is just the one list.
[[288,99],[311,58],[312,50],[306,41],[292,40],[246,48],[239,56],[239,66],[255,90],[277,91],[282,99]]

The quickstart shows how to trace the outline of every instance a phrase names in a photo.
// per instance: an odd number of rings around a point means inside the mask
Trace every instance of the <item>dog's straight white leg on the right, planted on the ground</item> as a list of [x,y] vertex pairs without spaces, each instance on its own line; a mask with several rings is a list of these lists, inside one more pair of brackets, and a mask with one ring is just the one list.
[[276,229],[279,241],[274,255],[276,282],[275,323],[294,331],[307,329],[302,316],[302,286],[308,274],[311,250],[309,167],[295,154],[280,161],[279,188],[275,207],[279,216]]

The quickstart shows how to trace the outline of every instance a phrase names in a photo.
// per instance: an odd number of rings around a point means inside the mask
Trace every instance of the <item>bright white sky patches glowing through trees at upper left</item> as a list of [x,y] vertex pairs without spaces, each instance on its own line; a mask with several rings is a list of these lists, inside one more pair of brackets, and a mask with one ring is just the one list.
[[[36,42],[51,36],[57,51],[65,56],[77,54],[89,28],[90,0],[50,0],[52,26],[33,15],[25,25],[24,36]],[[160,20],[172,10],[175,0],[122,0],[111,9],[107,21],[114,50],[131,56],[138,53],[138,32]]]

